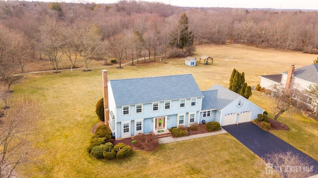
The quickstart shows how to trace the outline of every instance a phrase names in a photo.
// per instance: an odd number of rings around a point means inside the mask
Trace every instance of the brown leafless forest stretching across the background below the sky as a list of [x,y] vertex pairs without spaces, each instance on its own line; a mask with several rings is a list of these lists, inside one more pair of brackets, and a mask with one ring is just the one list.
[[[112,4],[0,1],[0,72],[24,72],[32,59],[121,63],[185,57],[197,44],[242,44],[318,54],[317,11],[178,7],[121,0]],[[184,41],[186,43],[184,43]],[[195,44],[195,45],[193,45]],[[7,67],[7,66],[10,67]],[[3,71],[0,70],[0,71]]]

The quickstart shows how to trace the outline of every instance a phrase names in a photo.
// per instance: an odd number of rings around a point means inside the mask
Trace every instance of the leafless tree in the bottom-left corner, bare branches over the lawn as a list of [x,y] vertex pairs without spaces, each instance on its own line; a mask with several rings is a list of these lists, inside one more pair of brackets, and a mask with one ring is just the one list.
[[15,177],[16,169],[37,164],[31,134],[39,114],[39,107],[26,99],[15,100],[10,109],[4,110],[0,118],[0,178]]

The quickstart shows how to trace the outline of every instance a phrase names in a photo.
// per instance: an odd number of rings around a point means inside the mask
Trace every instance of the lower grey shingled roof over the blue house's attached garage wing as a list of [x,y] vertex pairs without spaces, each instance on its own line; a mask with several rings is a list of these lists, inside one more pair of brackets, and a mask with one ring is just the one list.
[[218,111],[221,111],[240,97],[239,94],[219,84],[215,84],[209,90],[203,91],[202,93],[204,95],[202,100],[202,110],[217,109]]

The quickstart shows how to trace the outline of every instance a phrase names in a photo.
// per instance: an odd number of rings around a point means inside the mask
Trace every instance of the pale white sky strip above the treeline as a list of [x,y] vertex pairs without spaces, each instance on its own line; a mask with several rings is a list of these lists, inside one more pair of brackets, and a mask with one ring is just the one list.
[[[39,0],[62,2],[116,3],[118,0]],[[137,0],[140,1],[140,0]],[[318,9],[318,0],[142,0],[163,2],[187,7],[232,7],[232,8],[276,8],[276,9]]]

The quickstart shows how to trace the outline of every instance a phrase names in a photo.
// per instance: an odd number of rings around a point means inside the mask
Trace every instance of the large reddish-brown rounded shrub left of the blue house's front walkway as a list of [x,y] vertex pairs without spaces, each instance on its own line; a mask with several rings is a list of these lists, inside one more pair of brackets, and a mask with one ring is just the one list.
[[158,148],[158,138],[153,134],[139,133],[135,136],[135,144],[138,148],[145,151],[153,151]]

